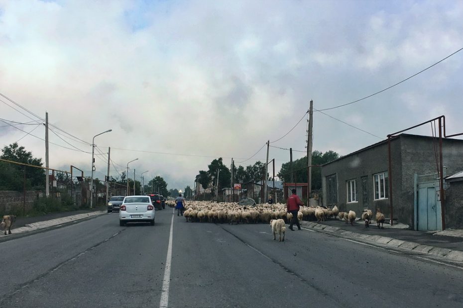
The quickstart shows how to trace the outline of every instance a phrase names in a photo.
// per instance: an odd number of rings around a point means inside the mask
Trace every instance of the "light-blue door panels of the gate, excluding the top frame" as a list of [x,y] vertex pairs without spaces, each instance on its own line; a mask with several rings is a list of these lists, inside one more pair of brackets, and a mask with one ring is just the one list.
[[437,193],[434,183],[418,184],[419,231],[439,230],[437,207]]

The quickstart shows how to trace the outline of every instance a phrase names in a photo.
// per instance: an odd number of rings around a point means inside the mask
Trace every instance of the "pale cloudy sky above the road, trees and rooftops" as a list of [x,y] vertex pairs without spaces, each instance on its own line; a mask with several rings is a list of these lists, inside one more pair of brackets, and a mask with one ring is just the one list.
[[[0,93],[31,112],[0,97],[1,119],[29,122],[0,121],[0,146],[44,160],[48,112],[51,168],[90,175],[93,138],[112,129],[95,138],[100,179],[111,147],[112,176],[138,158],[130,178],[183,190],[214,158],[265,161],[267,140],[277,173],[278,148],[304,156],[310,100],[339,106],[420,72],[463,47],[462,20],[457,0],[0,0]],[[313,150],[349,154],[440,115],[463,132],[462,66],[463,51],[323,111],[351,126],[314,111]]]

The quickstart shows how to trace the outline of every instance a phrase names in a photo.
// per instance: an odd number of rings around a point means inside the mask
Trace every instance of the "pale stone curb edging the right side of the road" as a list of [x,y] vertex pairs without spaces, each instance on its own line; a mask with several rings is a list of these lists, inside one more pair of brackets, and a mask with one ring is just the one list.
[[463,251],[452,250],[448,248],[439,248],[435,246],[423,245],[415,242],[409,242],[401,239],[396,239],[388,236],[369,235],[357,233],[353,231],[343,230],[338,227],[326,226],[313,222],[302,221],[303,227],[312,229],[313,231],[331,234],[338,237],[353,239],[368,244],[376,244],[383,248],[394,248],[399,250],[412,251],[421,254],[427,254],[433,257],[440,257],[447,261],[462,262]]

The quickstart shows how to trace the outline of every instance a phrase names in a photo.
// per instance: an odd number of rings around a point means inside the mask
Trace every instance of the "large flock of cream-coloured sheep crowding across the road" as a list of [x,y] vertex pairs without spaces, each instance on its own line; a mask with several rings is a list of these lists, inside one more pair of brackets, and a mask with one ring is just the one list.
[[[175,204],[168,201],[170,207]],[[256,206],[241,206],[237,203],[217,203],[211,201],[188,201],[183,213],[186,222],[208,222],[208,223],[228,223],[228,224],[269,224],[271,220],[283,219],[289,223],[293,218],[291,213],[286,212],[286,205],[282,203],[276,204],[258,204]],[[373,212],[365,210],[362,212],[361,219],[365,222],[365,227],[371,223]],[[356,219],[354,211],[340,212],[337,206],[333,208],[301,206],[297,215],[299,223],[302,220],[317,220],[322,222],[327,219],[335,219],[346,221],[346,224],[353,222]],[[378,228],[382,228],[385,218],[384,214],[378,209],[376,211],[376,223]]]

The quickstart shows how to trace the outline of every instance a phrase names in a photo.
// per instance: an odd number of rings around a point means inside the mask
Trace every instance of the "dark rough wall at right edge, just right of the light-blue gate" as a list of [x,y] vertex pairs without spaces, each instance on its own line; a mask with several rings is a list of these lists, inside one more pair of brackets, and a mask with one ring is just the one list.
[[446,190],[446,228],[463,229],[463,181],[450,183]]

